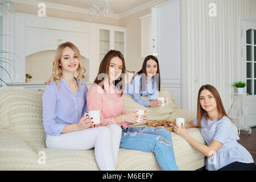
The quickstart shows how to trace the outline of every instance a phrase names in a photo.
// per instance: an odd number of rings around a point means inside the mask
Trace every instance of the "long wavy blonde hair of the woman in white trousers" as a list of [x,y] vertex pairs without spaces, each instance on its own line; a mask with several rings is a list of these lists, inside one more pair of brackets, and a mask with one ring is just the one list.
[[59,82],[61,81],[61,76],[63,75],[62,69],[60,67],[60,58],[61,58],[63,49],[65,47],[72,48],[73,51],[77,55],[77,58],[79,60],[79,67],[77,68],[77,71],[76,71],[77,72],[77,80],[79,80],[80,84],[82,84],[82,82],[81,82],[82,74],[84,74],[86,72],[86,69],[85,69],[84,65],[82,64],[82,56],[79,52],[79,49],[73,43],[65,42],[63,44],[60,44],[60,46],[56,49],[55,59],[53,60],[53,63],[52,63],[52,75],[48,79],[48,81],[46,81],[44,83],[44,85],[49,85],[50,82],[55,81],[57,87],[60,89]]

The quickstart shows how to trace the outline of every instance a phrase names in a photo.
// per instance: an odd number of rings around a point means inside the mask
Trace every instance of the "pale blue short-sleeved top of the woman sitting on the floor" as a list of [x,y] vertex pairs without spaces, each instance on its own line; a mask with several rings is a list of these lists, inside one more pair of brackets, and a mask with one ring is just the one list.
[[[193,123],[197,126],[196,119],[193,119]],[[203,118],[201,127],[201,135],[207,146],[212,143],[212,140],[223,143],[216,154],[207,158],[206,168],[209,171],[218,170],[233,162],[254,163],[251,154],[237,142],[240,138],[228,117],[222,117],[219,121],[210,121]]]

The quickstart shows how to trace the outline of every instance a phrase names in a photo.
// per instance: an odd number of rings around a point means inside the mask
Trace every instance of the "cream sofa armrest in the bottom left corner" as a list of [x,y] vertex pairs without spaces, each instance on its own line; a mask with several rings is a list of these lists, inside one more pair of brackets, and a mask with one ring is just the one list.
[[0,131],[0,170],[38,168],[38,155],[21,138]]

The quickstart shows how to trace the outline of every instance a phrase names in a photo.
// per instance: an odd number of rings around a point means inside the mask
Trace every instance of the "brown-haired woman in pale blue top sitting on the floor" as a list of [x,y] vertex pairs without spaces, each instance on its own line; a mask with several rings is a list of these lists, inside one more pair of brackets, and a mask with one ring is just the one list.
[[[207,145],[188,135],[185,128],[199,127]],[[228,117],[214,86],[203,85],[197,97],[197,117],[174,131],[192,147],[207,156],[206,168],[214,170],[255,170],[251,154],[237,142],[232,119]]]

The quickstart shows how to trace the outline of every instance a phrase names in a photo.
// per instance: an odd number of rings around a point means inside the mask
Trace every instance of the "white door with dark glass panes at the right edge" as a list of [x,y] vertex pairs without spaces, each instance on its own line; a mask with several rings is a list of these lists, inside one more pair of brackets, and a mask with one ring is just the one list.
[[241,18],[242,80],[246,81],[246,110],[242,126],[249,131],[256,126],[256,19]]

